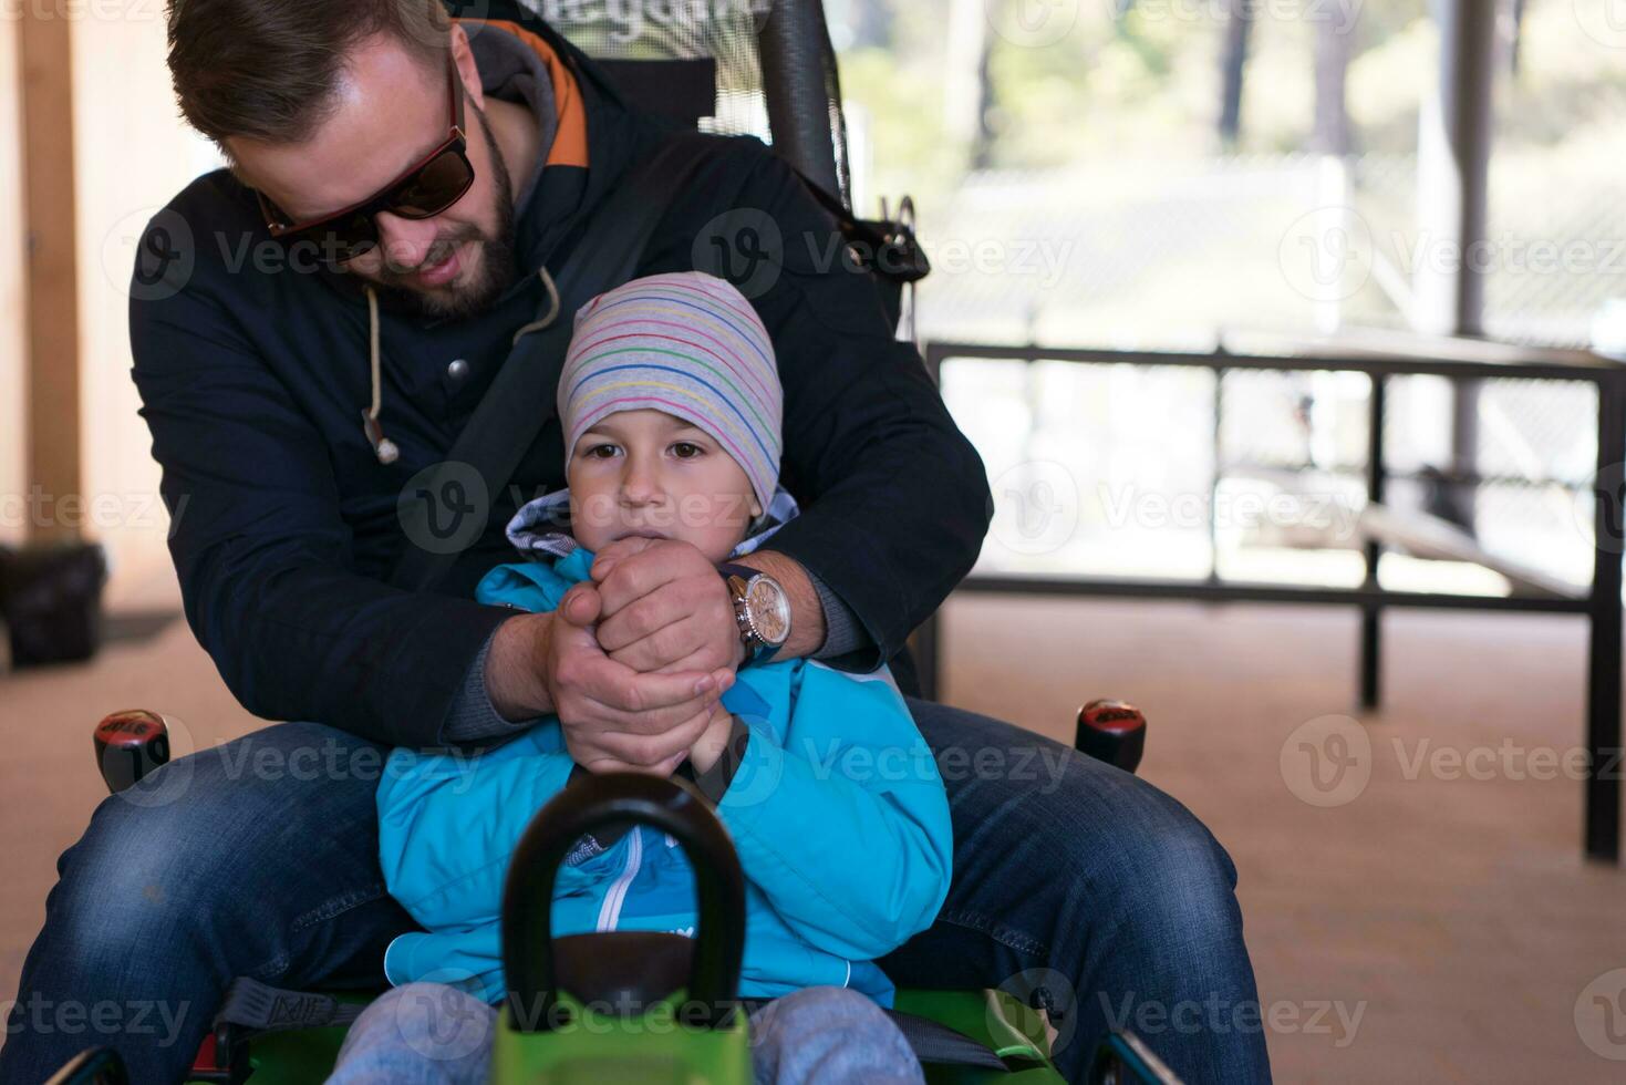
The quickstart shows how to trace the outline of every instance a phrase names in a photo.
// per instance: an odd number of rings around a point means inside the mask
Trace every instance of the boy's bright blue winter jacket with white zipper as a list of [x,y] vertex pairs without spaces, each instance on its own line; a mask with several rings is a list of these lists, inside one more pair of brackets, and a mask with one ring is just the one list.
[[[478,599],[553,610],[592,553],[493,569]],[[722,698],[750,729],[717,805],[746,875],[741,997],[849,986],[891,1004],[873,963],[932,924],[948,893],[951,830],[937,765],[881,670],[793,659],[743,667]],[[397,937],[390,983],[504,994],[499,914],[509,856],[574,761],[556,717],[475,756],[395,750],[379,786],[389,891],[426,927]],[[553,930],[693,935],[686,857],[654,830],[559,870]]]

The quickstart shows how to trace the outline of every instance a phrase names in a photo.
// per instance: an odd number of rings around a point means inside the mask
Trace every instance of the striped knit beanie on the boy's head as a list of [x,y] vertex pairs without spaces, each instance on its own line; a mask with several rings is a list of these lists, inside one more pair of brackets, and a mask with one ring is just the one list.
[[580,307],[559,374],[566,459],[582,433],[623,410],[699,426],[745,470],[763,509],[772,503],[784,389],[767,329],[727,280],[650,275]]

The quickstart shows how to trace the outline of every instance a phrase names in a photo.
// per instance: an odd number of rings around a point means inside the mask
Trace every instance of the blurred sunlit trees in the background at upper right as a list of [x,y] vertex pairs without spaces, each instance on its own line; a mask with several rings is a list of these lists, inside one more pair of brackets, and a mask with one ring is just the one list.
[[[1106,156],[1413,155],[1439,55],[1428,0],[1078,0],[1049,8],[1076,18],[1042,41],[1011,33],[1036,0],[829,2],[880,190]],[[1519,63],[1502,148],[1619,132],[1623,54],[1585,39],[1574,7],[1619,0],[1476,2],[1506,5],[1499,70]]]

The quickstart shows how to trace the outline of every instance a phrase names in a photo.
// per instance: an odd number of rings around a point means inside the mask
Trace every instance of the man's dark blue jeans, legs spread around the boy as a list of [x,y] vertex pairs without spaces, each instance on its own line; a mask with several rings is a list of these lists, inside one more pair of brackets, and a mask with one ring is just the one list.
[[[1044,1004],[1068,1080],[1109,1026],[1137,1031],[1187,1082],[1270,1080],[1236,867],[1213,834],[1156,787],[1054,742],[940,704],[911,711],[948,786],[954,878],[886,971]],[[180,1080],[233,976],[382,986],[384,947],[415,929],[379,874],[385,753],[280,724],[106,799],[57,862],[0,1083],[36,1085],[94,1044],[117,1048],[132,1080]]]

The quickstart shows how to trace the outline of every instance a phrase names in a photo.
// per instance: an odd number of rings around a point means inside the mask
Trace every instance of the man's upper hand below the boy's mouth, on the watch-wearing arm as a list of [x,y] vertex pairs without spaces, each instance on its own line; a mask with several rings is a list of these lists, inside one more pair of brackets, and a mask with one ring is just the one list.
[[691,543],[621,538],[593,558],[598,644],[637,672],[737,670],[745,660],[728,584]]

